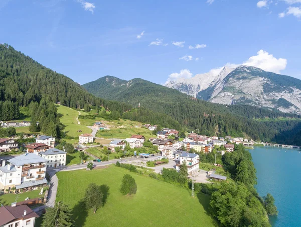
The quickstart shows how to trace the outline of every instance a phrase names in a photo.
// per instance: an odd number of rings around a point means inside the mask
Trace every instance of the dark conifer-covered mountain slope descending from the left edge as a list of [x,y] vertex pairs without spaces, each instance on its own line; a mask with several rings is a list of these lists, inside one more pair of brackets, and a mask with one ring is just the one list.
[[58,101],[77,109],[85,105],[102,106],[116,117],[122,117],[126,112],[126,117],[131,120],[181,129],[176,120],[165,114],[95,97],[70,78],[42,66],[7,44],[0,44],[0,121],[17,119],[19,106],[34,106],[31,109],[37,111],[31,111],[32,121],[39,121],[45,134],[50,134],[50,130],[46,131],[44,121],[45,124],[55,122],[55,135],[59,137],[60,122],[53,105]]

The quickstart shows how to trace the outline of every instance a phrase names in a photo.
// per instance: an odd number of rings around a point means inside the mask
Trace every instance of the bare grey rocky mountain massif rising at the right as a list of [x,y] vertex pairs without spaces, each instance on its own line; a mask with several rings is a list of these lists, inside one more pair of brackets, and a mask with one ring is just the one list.
[[[208,78],[203,82],[195,77],[170,83],[170,87],[214,103],[246,104],[301,114],[301,80],[249,66],[225,67],[211,78],[209,85]],[[188,85],[191,89],[185,90]]]

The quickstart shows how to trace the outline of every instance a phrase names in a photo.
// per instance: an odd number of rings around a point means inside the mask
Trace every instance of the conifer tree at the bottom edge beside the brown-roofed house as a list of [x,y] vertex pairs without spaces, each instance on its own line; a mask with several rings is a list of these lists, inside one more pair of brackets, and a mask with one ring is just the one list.
[[43,216],[42,227],[70,227],[72,226],[71,209],[59,201],[54,207],[46,208]]

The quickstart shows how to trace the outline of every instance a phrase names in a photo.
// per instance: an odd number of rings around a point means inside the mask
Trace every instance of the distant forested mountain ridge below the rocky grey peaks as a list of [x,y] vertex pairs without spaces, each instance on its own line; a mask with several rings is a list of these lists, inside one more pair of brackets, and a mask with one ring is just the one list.
[[[276,135],[294,129],[300,116],[280,111],[271,111],[247,105],[220,105],[185,95],[142,79],[129,81],[106,76],[83,85],[92,94],[110,100],[119,100],[172,116],[181,125],[202,134],[224,136],[249,135],[253,139],[275,141]],[[126,113],[125,113],[126,114]],[[253,118],[279,121],[256,121]]]

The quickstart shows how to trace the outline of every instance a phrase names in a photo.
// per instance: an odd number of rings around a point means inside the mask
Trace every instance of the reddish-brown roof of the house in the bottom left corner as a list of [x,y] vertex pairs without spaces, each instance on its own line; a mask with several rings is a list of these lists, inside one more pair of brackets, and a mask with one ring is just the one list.
[[[24,216],[24,211],[26,215]],[[27,205],[20,206],[2,206],[0,207],[0,226],[8,224],[15,219],[26,220],[32,217],[39,217],[31,208]]]

